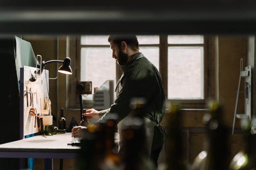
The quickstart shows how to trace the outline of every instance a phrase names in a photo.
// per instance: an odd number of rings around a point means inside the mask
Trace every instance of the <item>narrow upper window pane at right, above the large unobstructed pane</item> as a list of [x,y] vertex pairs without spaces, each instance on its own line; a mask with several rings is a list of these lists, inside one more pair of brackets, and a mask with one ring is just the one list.
[[168,44],[203,44],[203,35],[168,35]]

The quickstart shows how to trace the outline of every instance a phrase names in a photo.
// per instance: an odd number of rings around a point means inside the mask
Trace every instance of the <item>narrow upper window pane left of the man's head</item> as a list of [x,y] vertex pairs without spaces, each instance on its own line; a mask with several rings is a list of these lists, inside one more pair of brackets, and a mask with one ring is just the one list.
[[82,45],[109,45],[109,35],[84,35],[81,36]]

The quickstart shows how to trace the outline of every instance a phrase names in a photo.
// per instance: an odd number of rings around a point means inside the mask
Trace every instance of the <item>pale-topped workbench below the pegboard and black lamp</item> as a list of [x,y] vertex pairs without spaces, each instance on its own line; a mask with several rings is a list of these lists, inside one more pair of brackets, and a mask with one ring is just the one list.
[[[68,146],[71,133],[37,135],[0,145],[1,158],[45,158],[44,169],[53,169],[53,158],[76,159],[80,147]],[[20,164],[20,168],[24,165]]]

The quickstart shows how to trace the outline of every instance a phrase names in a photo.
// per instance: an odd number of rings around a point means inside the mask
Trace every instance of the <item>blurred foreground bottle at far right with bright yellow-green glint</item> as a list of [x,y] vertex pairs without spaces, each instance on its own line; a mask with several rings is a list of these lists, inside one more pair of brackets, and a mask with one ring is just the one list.
[[229,170],[254,170],[256,163],[256,120],[241,119],[243,146],[230,162]]

